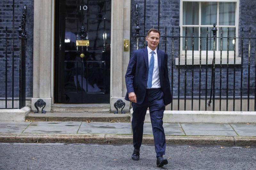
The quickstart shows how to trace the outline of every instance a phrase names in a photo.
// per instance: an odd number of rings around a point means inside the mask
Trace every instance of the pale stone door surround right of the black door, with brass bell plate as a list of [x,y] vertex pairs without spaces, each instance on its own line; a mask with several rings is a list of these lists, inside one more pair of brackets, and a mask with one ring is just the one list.
[[124,100],[126,94],[125,73],[130,52],[124,52],[124,39],[130,39],[131,0],[112,0],[111,14],[111,65],[110,65],[110,106],[116,111],[114,103],[125,102],[123,111],[129,112],[130,102]]

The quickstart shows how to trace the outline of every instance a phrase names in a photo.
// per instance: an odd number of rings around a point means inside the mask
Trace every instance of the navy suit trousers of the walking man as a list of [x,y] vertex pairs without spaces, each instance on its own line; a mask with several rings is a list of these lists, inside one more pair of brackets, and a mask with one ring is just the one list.
[[164,93],[161,88],[147,89],[145,99],[142,104],[132,103],[133,146],[135,149],[140,149],[143,135],[143,124],[149,107],[156,157],[164,155],[166,147],[163,128],[163,116],[165,110],[163,97]]

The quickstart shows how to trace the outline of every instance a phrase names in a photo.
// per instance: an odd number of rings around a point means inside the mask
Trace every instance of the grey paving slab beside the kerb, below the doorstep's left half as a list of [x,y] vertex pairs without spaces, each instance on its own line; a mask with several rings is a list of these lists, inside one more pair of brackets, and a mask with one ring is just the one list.
[[79,126],[28,126],[23,133],[76,133]]

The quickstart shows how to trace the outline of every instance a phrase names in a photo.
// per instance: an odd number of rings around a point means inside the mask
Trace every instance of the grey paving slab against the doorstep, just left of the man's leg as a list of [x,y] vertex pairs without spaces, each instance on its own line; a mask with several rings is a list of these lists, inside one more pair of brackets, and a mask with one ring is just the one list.
[[122,122],[82,122],[80,128],[131,129],[131,123]]

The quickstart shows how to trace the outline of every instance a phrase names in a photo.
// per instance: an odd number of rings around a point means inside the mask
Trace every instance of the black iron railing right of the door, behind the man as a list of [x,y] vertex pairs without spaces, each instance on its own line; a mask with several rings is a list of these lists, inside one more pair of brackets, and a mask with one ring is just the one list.
[[[145,10],[144,10],[145,14]],[[159,18],[159,17],[158,17]],[[154,27],[154,26],[152,26]],[[236,100],[240,99],[240,111],[242,110],[252,110],[250,109],[250,104],[252,104],[252,100],[254,100],[254,111],[256,111],[256,58],[251,55],[251,52],[253,51],[253,54],[255,54],[255,47],[252,49],[252,40],[256,40],[256,37],[251,37],[251,28],[248,30],[248,36],[244,37],[244,30],[241,31],[241,37],[236,37],[236,31],[234,33],[234,36],[230,36],[229,28],[227,28],[227,36],[223,36],[223,29],[222,27],[220,30],[217,30],[215,27],[215,23],[213,24],[213,28],[211,31],[208,30],[208,27],[206,28],[206,34],[202,35],[202,28],[200,27],[200,36],[195,36],[194,27],[192,28],[192,36],[188,36],[187,34],[187,27],[185,27],[185,33],[183,32],[183,35],[180,36],[180,27],[177,34],[177,31],[174,30],[174,27],[172,27],[171,35],[167,35],[167,28],[166,27],[160,27],[159,26],[159,20],[158,20],[158,26],[155,26],[158,28],[161,28],[161,30],[164,30],[164,33],[161,33],[161,39],[164,41],[160,41],[158,45],[162,47],[162,50],[165,51],[169,56],[171,56],[171,59],[168,60],[169,63],[169,72],[171,72],[170,80],[171,80],[171,90],[173,93],[173,98],[177,99],[177,110],[180,110],[180,101],[184,101],[184,110],[188,110],[187,101],[191,103],[191,108],[189,110],[194,110],[194,100],[198,100],[198,110],[200,110],[201,107],[201,100],[204,100],[204,110],[209,110],[209,106],[212,107],[212,110],[215,111],[215,100],[218,100],[219,102],[219,110],[231,110],[233,111],[238,110],[235,109],[235,106],[237,104]],[[176,27],[177,28],[177,27]],[[135,36],[132,36],[131,38],[135,38],[136,46],[135,49],[146,47],[145,43],[145,15],[144,15],[144,33],[143,35],[140,35],[140,26],[139,26],[139,19],[138,19],[138,5],[136,5],[136,27],[135,27]],[[235,28],[236,30],[236,28]],[[220,31],[220,37],[217,37],[217,31]],[[176,32],[176,35],[175,35]],[[164,35],[164,36],[163,36]],[[183,39],[184,47],[181,49],[181,39]],[[192,64],[187,63],[188,59],[188,39],[192,39]],[[195,40],[199,40],[199,64],[194,63],[194,53],[195,53]],[[134,39],[131,39],[131,41]],[[205,63],[202,63],[202,41],[205,41],[206,49],[205,51]],[[212,47],[209,46],[209,41],[213,40]],[[220,42],[220,49],[218,60],[220,63],[216,64],[216,42],[217,40]],[[227,50],[223,50],[223,41],[226,40],[227,43]],[[232,40],[233,49],[229,49],[230,45],[229,42]],[[239,50],[236,49],[237,41],[239,40]],[[246,41],[246,44],[244,42]],[[169,42],[169,44],[168,44]],[[178,44],[178,45],[177,45]],[[131,45],[132,47],[132,45]],[[170,47],[170,48],[169,48]],[[191,47],[191,46],[190,46]],[[211,47],[211,53],[213,53],[212,57],[209,57],[209,51],[208,47]],[[168,49],[169,48],[169,49]],[[243,50],[248,50],[248,53],[245,54]],[[131,49],[133,50],[133,49]],[[184,52],[184,55],[181,57],[181,52]],[[223,55],[223,52],[225,51],[225,56]],[[230,58],[230,52],[234,53],[232,54],[232,57]],[[236,52],[238,54],[236,55]],[[248,56],[247,58],[244,58],[244,55]],[[254,55],[255,56],[255,55]],[[223,57],[225,57],[226,62],[223,63]],[[174,59],[178,58],[176,60],[176,64],[174,65]],[[241,58],[241,64],[236,63],[236,59]],[[184,60],[184,64],[181,65],[181,59]],[[189,58],[191,59],[191,58]],[[209,63],[209,59],[210,63]],[[230,60],[231,59],[231,60]],[[253,64],[251,63],[253,59]],[[233,60],[233,61],[232,61]],[[212,61],[212,62],[211,62]],[[231,62],[231,63],[230,63]],[[246,62],[246,63],[245,63]],[[178,63],[178,64],[177,64]],[[254,68],[252,68],[254,67]],[[178,72],[178,75],[174,75],[174,69]],[[189,69],[189,78],[191,77],[191,81],[188,81],[188,69]],[[190,71],[191,70],[191,71]],[[217,74],[216,75],[216,70]],[[211,75],[208,76],[209,71],[211,71]],[[244,71],[247,75],[244,74]],[[250,75],[250,72],[254,73],[253,75]],[[199,76],[195,78],[195,73]],[[240,74],[239,74],[240,73]],[[202,77],[202,74],[204,74],[204,77]],[[181,76],[182,79],[180,78]],[[210,79],[209,79],[210,77]],[[239,78],[239,80],[238,80]],[[178,83],[176,84],[178,87],[174,90],[174,83],[175,79],[178,79]],[[181,84],[184,82],[184,85]],[[199,80],[198,88],[195,90],[195,81]],[[247,82],[244,82],[246,81]],[[252,81],[251,81],[252,80]],[[240,81],[240,82],[239,82]],[[210,87],[209,87],[210,84]],[[217,86],[216,86],[217,85]],[[240,85],[240,87],[239,87]],[[182,87],[181,87],[182,86]],[[189,87],[189,88],[188,88]],[[210,89],[209,89],[210,88]],[[196,96],[195,96],[196,91]],[[203,96],[203,91],[204,97]],[[209,94],[210,92],[210,94]],[[240,94],[239,94],[239,93]],[[224,94],[223,94],[224,93]],[[182,95],[182,96],[181,96]],[[226,108],[222,108],[222,100],[226,100]],[[230,104],[228,101],[232,101]],[[246,101],[245,101],[246,100]],[[207,102],[208,101],[208,102]],[[245,103],[247,102],[247,103]],[[243,109],[243,103],[244,105],[247,105],[247,109]],[[176,104],[175,104],[176,105]],[[237,107],[236,107],[237,108]],[[171,110],[173,110],[173,103],[171,103]]]

